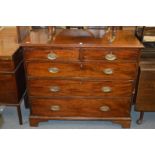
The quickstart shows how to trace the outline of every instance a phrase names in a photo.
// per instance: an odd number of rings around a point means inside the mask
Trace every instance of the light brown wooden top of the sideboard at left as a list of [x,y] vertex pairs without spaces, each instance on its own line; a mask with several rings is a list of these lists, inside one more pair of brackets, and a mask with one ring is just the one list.
[[0,59],[12,59],[18,48],[16,28],[5,27],[2,29],[0,31]]

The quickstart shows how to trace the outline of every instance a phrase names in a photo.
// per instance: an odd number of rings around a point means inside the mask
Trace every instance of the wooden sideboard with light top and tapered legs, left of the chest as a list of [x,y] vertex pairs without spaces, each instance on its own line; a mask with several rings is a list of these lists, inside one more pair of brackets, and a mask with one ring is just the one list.
[[16,41],[15,29],[0,32],[0,105],[16,106],[19,123],[22,124],[20,103],[26,102],[26,84],[23,49]]

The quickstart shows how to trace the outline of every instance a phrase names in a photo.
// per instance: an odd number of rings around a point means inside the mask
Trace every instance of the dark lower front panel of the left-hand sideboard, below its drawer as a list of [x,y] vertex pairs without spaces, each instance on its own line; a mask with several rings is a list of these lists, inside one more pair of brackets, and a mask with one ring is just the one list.
[[12,75],[0,75],[0,103],[17,103],[16,81]]

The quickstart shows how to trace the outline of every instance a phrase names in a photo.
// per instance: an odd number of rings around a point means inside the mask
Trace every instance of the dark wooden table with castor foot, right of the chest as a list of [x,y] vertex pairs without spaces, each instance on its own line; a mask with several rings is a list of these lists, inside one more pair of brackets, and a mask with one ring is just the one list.
[[143,59],[140,62],[135,109],[140,112],[138,124],[142,123],[144,112],[155,111],[155,59]]

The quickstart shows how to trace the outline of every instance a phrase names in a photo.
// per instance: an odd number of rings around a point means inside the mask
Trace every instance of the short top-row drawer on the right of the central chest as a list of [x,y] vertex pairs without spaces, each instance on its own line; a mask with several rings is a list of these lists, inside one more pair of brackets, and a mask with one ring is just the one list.
[[116,60],[127,60],[127,61],[137,61],[139,58],[138,49],[113,49],[113,48],[101,48],[92,49],[84,48],[81,50],[84,60],[106,60],[106,61],[116,61]]

